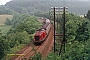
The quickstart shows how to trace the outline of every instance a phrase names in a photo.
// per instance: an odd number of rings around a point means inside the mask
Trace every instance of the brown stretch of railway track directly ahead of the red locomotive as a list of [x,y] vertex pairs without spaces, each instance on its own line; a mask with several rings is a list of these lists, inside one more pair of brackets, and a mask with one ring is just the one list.
[[30,56],[32,56],[35,51],[39,48],[40,46],[29,46],[26,47],[24,49],[22,49],[18,54],[18,56],[13,56],[10,60],[23,60],[24,58],[29,58]]

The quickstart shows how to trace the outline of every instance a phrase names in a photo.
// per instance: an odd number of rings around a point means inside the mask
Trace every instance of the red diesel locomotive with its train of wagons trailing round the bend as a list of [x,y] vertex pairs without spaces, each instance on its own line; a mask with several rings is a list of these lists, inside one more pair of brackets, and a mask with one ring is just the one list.
[[48,33],[50,31],[50,28],[51,28],[51,24],[50,24],[49,19],[46,19],[45,22],[46,23],[42,26],[42,28],[39,29],[38,31],[36,31],[36,33],[34,35],[34,43],[35,44],[41,43],[48,36]]

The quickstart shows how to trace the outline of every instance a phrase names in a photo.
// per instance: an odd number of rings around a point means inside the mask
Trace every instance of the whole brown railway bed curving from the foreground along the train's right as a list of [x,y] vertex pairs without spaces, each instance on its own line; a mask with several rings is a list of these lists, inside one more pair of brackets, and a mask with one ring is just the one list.
[[21,55],[13,56],[11,60],[23,60],[24,58],[28,59],[29,57],[33,56],[34,53],[38,53],[38,52],[40,52],[43,57],[46,57],[53,47],[53,43],[54,43],[53,31],[54,31],[54,28],[53,26],[51,26],[51,30],[48,37],[41,45],[34,46],[31,43],[30,45],[24,47],[20,52],[17,53]]

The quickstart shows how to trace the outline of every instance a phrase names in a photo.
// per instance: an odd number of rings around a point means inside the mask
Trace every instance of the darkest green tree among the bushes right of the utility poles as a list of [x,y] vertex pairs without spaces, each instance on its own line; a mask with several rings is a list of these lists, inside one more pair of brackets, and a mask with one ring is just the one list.
[[84,22],[82,25],[79,25],[79,28],[76,30],[76,40],[87,41],[89,39],[87,24],[88,22]]

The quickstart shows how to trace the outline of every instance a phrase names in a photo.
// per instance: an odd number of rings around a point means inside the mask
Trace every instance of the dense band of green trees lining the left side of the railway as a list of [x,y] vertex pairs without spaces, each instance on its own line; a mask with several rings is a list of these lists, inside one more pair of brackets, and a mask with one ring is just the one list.
[[2,36],[0,32],[0,60],[9,54],[12,48],[21,44],[28,45],[33,40],[35,31],[42,26],[36,17],[25,14],[14,15],[12,20],[7,19],[6,22],[11,22],[12,28],[6,36]]

